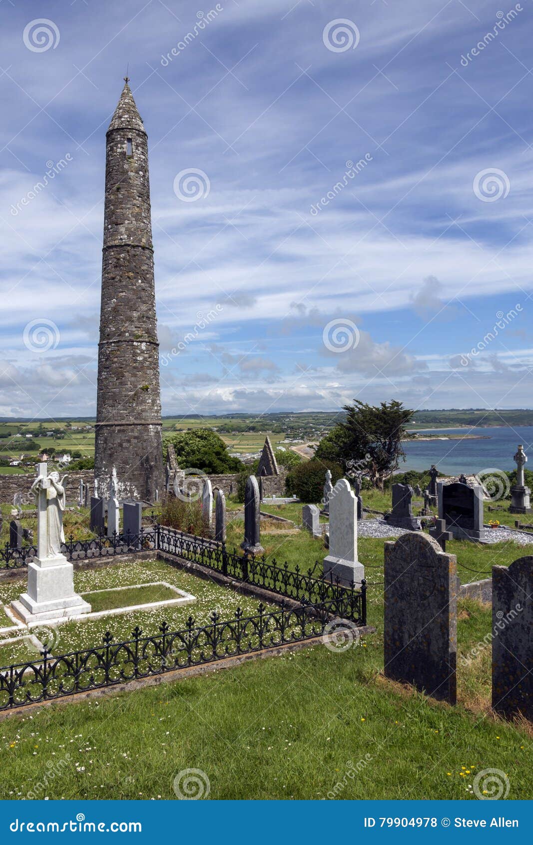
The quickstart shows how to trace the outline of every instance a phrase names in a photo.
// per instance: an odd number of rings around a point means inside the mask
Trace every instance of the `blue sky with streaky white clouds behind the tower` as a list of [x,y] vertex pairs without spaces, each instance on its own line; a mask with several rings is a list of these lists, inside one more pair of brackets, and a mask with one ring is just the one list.
[[3,0],[0,415],[95,412],[105,134],[128,63],[164,413],[531,407],[532,14]]

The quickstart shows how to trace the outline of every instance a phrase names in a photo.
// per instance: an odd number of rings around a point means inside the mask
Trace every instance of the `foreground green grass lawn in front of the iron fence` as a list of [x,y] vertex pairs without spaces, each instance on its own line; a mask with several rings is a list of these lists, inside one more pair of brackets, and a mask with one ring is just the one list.
[[[490,624],[474,604],[461,607],[460,654]],[[174,799],[189,768],[209,778],[211,799],[468,800],[487,768],[509,776],[509,799],[530,798],[530,735],[485,710],[490,657],[460,670],[455,707],[383,679],[382,659],[379,627],[342,653],[313,646],[22,712],[2,725],[0,798]]]

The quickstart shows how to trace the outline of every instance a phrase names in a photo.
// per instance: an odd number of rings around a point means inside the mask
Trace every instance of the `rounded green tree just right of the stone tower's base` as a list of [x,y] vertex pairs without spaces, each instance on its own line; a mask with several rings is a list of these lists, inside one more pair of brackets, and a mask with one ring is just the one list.
[[172,434],[168,442],[176,450],[180,469],[207,473],[240,472],[242,461],[228,454],[226,444],[212,428],[193,428]]

